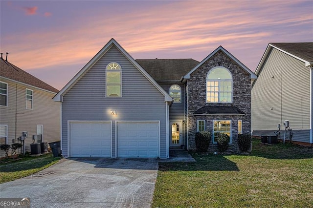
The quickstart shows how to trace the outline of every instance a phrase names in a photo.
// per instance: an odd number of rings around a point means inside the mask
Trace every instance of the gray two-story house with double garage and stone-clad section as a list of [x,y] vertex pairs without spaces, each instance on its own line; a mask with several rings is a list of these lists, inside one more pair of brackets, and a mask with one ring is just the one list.
[[165,159],[170,148],[195,149],[195,133],[205,129],[237,144],[238,122],[239,133],[250,133],[251,79],[223,47],[200,63],[135,61],[112,39],[54,97],[62,105],[63,155]]

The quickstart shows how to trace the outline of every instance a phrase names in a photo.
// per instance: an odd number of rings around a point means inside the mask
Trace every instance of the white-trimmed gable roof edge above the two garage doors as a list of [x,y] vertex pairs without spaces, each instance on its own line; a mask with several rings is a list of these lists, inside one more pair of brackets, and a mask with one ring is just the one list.
[[115,46],[134,66],[164,95],[164,101],[172,102],[173,98],[129,55],[113,38],[56,94],[54,101],[62,101],[62,96],[77,83],[112,46]]

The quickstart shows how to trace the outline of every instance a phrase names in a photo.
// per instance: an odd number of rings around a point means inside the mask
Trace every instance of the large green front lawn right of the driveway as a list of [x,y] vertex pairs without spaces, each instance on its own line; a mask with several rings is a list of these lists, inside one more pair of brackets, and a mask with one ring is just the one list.
[[152,207],[313,208],[313,148],[252,141],[251,155],[160,163]]

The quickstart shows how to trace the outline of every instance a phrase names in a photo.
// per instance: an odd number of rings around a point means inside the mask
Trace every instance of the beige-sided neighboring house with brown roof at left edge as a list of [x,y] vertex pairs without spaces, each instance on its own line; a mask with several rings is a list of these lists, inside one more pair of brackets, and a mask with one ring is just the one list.
[[[0,58],[0,143],[17,143],[27,131],[25,151],[35,142],[60,141],[59,90]],[[4,151],[0,152],[4,156]]]

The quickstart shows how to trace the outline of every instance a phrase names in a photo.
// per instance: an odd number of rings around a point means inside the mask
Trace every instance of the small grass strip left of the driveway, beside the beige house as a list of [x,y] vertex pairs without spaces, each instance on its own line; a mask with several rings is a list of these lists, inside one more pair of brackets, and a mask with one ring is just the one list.
[[60,157],[54,158],[52,154],[38,157],[21,155],[19,157],[21,159],[13,162],[0,163],[0,184],[34,174],[60,160]]

